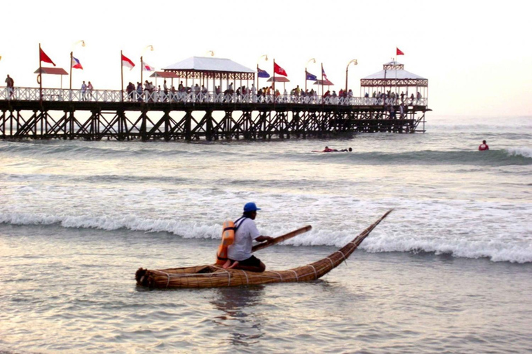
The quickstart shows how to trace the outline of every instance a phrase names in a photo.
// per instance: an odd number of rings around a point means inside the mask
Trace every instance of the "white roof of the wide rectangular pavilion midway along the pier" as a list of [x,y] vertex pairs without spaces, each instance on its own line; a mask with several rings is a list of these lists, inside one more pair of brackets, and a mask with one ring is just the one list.
[[166,66],[163,71],[174,71],[179,77],[191,78],[254,80],[255,77],[255,71],[246,66],[231,59],[214,57],[190,57]]

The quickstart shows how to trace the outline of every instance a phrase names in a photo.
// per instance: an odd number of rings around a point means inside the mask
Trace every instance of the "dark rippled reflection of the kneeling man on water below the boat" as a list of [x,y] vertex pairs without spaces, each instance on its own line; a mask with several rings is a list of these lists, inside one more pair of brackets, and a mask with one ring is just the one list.
[[221,310],[222,315],[215,316],[213,322],[229,333],[222,342],[229,342],[232,346],[258,343],[264,335],[266,317],[252,308],[263,302],[264,286],[261,285],[217,289],[211,304]]

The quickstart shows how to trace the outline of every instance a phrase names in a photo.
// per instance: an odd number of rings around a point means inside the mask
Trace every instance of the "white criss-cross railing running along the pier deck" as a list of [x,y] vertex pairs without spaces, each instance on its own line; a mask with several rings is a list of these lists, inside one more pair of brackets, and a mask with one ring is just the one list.
[[317,104],[337,106],[427,106],[427,98],[323,97],[319,95],[251,95],[238,93],[120,90],[69,90],[62,88],[0,87],[0,100],[46,102],[145,102],[145,103],[248,103],[248,104]]

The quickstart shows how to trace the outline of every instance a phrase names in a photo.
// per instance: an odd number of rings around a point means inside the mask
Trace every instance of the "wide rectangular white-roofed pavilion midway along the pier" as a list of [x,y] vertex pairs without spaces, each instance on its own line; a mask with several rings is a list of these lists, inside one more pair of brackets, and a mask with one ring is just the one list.
[[[215,58],[215,57],[190,57],[177,62],[170,66],[163,68],[163,71],[172,71],[177,77],[185,79],[185,86],[188,86],[188,80],[192,80],[190,86],[194,84],[204,85],[209,90],[209,83],[212,84],[214,91],[217,80],[222,91],[222,80],[225,81],[225,88],[233,83],[233,88],[242,86],[242,81],[247,81],[246,86],[249,86],[249,81],[255,82],[255,71],[233,62],[230,59]],[[198,80],[199,82],[196,82]]]

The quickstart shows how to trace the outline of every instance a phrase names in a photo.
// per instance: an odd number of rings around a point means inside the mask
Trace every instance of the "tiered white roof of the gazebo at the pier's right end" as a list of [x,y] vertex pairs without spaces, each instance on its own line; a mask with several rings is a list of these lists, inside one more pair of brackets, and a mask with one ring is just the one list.
[[361,86],[428,86],[429,80],[405,70],[405,65],[392,61],[382,66],[382,70],[360,80]]

